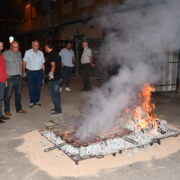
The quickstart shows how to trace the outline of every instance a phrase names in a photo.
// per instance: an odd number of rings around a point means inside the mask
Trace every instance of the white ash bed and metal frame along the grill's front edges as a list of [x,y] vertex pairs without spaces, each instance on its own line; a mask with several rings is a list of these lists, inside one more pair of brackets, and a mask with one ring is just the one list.
[[[54,131],[54,127],[56,130]],[[130,130],[122,130],[120,134],[115,134],[112,137],[96,139],[88,143],[74,144],[63,138],[61,133],[57,133],[57,124],[51,124],[49,127],[39,131],[48,141],[54,144],[53,147],[45,149],[44,152],[49,152],[54,149],[59,149],[71,158],[76,164],[79,161],[90,158],[102,158],[105,155],[122,153],[127,149],[143,148],[146,145],[152,146],[154,143],[161,144],[161,139],[175,137],[179,135],[177,130],[168,129],[165,134],[145,134],[141,131],[132,132]]]

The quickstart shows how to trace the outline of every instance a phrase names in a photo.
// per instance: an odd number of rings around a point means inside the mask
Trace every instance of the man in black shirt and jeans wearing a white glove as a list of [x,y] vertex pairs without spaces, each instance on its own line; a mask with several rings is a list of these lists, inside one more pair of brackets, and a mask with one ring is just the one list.
[[51,115],[59,116],[62,115],[59,91],[61,79],[61,57],[54,51],[51,42],[45,44],[45,51],[48,53],[48,58],[45,63],[45,77],[54,104],[54,108],[51,109]]

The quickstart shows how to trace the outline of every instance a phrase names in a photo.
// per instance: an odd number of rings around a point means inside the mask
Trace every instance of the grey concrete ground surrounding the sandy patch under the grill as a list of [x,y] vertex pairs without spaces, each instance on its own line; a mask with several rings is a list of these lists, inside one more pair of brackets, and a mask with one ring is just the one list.
[[[81,83],[73,81],[73,91],[62,93],[63,113],[68,117],[78,116],[81,110]],[[170,125],[180,129],[180,94],[156,95],[157,113]],[[101,170],[98,176],[53,178],[47,172],[33,165],[24,153],[16,150],[23,140],[15,139],[26,133],[38,130],[44,123],[53,119],[49,116],[51,102],[46,87],[42,90],[42,107],[29,109],[28,90],[23,88],[23,108],[28,114],[16,114],[12,99],[11,120],[0,124],[0,180],[179,180],[180,179],[180,149],[162,159],[143,161],[112,171]],[[163,168],[162,168],[163,167]],[[26,177],[26,178],[25,178]]]

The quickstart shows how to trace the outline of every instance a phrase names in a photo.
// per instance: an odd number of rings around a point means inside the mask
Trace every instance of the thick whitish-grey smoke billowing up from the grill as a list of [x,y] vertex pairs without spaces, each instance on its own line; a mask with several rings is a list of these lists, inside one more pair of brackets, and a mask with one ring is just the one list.
[[[112,15],[100,19],[107,32],[100,65],[121,68],[116,76],[89,95],[76,134],[82,140],[110,130],[116,114],[135,103],[143,84],[159,80],[158,62],[166,60],[169,43],[180,38],[180,0],[149,2],[152,6],[129,12],[114,13],[117,7],[104,10]],[[126,1],[123,7],[129,4]]]

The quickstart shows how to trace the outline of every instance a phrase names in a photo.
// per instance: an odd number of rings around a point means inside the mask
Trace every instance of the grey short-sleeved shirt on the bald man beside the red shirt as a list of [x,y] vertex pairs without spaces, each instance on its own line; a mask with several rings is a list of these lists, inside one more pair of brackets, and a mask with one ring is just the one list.
[[8,76],[22,74],[22,55],[21,52],[14,53],[12,50],[7,50],[3,53],[6,62],[6,71]]

